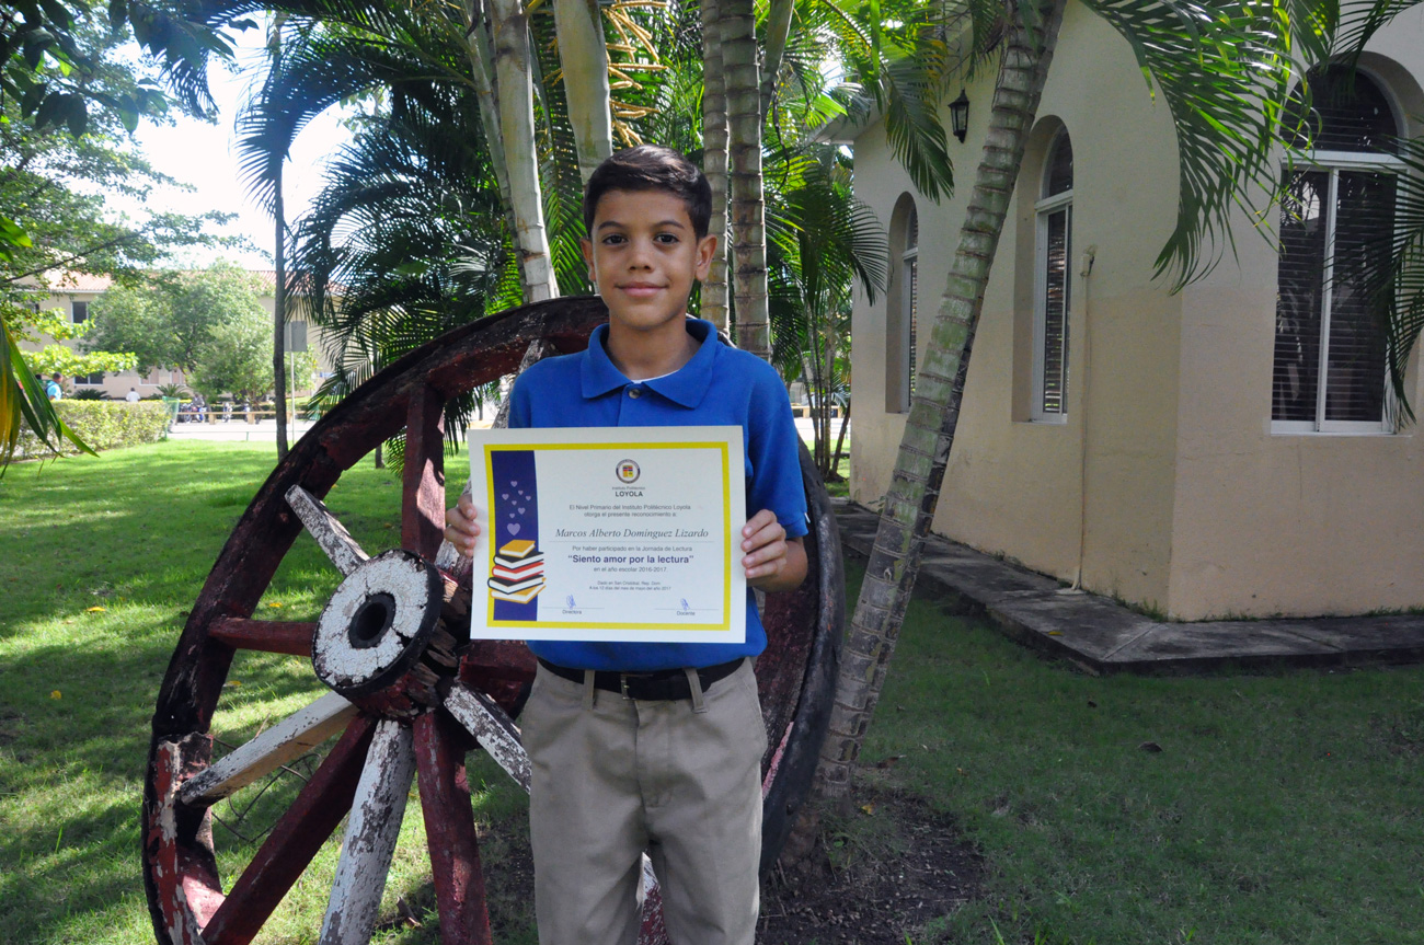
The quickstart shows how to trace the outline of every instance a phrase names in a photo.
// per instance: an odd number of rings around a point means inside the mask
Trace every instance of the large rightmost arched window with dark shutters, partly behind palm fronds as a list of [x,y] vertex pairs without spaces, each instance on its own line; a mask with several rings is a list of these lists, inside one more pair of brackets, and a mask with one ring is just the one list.
[[1361,71],[1314,70],[1306,88],[1286,120],[1293,144],[1313,151],[1280,204],[1272,430],[1387,430],[1384,336],[1364,273],[1390,252],[1400,122]]

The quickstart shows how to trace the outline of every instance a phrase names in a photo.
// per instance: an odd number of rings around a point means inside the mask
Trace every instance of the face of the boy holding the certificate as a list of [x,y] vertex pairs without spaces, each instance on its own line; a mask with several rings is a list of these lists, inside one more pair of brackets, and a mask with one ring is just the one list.
[[682,319],[693,280],[706,279],[716,236],[698,239],[686,205],[666,191],[608,191],[584,241],[588,279],[612,320],[652,330]]

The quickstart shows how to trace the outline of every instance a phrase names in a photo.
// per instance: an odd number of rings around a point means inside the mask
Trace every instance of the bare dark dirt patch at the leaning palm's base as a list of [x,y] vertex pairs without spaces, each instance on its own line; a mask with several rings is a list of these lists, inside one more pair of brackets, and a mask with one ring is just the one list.
[[981,889],[980,855],[954,821],[917,797],[862,796],[844,821],[823,824],[800,867],[762,887],[762,945],[904,945]]

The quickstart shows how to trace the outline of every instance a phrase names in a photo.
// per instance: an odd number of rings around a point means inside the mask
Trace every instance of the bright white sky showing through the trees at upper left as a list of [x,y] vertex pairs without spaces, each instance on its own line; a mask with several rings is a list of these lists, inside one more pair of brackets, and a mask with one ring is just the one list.
[[[195,188],[192,192],[178,188],[155,189],[148,198],[150,209],[181,213],[204,213],[215,209],[236,213],[238,218],[219,232],[244,235],[256,248],[249,252],[194,249],[178,256],[179,265],[201,266],[221,256],[249,269],[272,268],[275,236],[272,218],[245,194],[238,176],[234,147],[238,111],[246,101],[249,88],[261,81],[258,67],[263,57],[263,37],[265,31],[261,28],[246,30],[235,37],[242,73],[234,74],[224,65],[211,68],[209,84],[218,102],[216,124],[179,115],[172,125],[144,121],[135,134],[155,169]],[[326,157],[335,154],[349,138],[350,134],[340,124],[339,110],[335,108],[302,130],[283,172],[289,225],[306,211],[312,198],[320,191]],[[111,199],[110,209],[132,216],[137,205]]]

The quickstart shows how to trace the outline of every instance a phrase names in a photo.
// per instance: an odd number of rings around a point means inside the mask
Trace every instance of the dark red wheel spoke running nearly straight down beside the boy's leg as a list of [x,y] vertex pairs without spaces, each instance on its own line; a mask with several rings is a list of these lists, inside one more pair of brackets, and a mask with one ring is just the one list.
[[426,843],[434,874],[443,945],[490,945],[490,912],[484,902],[480,843],[470,810],[464,750],[457,723],[444,712],[416,719],[416,770]]

